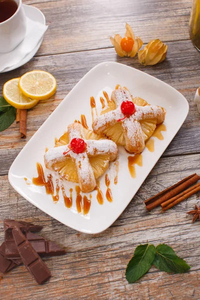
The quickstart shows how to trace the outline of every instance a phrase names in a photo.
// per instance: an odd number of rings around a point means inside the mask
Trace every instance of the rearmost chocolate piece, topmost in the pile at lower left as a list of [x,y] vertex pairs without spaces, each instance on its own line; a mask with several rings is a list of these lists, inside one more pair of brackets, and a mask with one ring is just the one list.
[[11,231],[14,226],[19,227],[21,231],[38,232],[42,229],[42,226],[34,225],[32,223],[4,219],[4,231]]

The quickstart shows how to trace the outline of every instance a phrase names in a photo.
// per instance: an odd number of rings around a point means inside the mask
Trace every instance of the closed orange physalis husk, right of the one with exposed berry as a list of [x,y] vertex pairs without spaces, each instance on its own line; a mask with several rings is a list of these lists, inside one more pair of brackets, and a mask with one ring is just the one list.
[[153,65],[161,62],[166,57],[167,45],[160,39],[152,39],[138,51],[139,63],[142,65]]

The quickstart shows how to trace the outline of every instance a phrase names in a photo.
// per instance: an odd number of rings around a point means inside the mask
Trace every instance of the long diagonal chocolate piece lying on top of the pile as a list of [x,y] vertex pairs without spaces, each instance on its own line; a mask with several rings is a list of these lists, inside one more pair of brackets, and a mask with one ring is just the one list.
[[33,249],[19,227],[14,226],[12,234],[23,264],[32,274],[36,282],[42,284],[51,276],[49,269]]

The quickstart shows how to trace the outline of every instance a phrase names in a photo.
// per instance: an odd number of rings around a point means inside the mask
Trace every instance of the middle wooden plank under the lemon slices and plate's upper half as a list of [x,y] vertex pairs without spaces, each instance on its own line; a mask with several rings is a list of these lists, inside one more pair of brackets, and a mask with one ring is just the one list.
[[113,49],[102,49],[36,57],[16,70],[0,74],[0,89],[6,80],[18,77],[31,69],[47,70],[57,79],[56,94],[50,100],[41,101],[28,110],[27,138],[25,140],[20,139],[18,124],[15,122],[8,129],[0,132],[0,174],[7,173],[17,153],[78,80],[91,67],[106,60],[136,67],[178,89],[189,102],[189,114],[164,155],[200,152],[200,114],[193,102],[196,87],[199,86],[199,53],[190,41],[168,42],[167,44],[166,60],[154,66],[143,67],[138,63],[136,57],[120,58],[116,56]]

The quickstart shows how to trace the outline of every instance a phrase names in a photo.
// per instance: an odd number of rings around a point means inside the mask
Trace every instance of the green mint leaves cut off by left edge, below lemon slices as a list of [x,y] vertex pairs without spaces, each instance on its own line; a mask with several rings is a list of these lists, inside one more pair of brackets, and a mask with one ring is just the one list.
[[0,97],[0,131],[8,128],[16,118],[16,108]]

